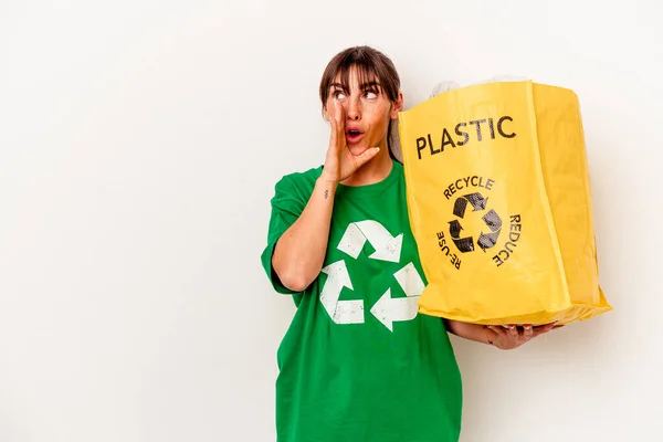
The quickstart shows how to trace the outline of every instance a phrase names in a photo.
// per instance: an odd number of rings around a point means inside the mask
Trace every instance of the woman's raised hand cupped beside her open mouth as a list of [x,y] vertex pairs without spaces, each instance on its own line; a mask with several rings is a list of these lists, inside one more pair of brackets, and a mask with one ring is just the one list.
[[352,155],[348,149],[346,140],[346,115],[344,107],[336,101],[333,101],[332,134],[329,136],[329,148],[327,158],[323,168],[323,177],[334,183],[338,183],[357,171],[361,166],[370,161],[378,151],[379,147],[367,149],[361,155]]

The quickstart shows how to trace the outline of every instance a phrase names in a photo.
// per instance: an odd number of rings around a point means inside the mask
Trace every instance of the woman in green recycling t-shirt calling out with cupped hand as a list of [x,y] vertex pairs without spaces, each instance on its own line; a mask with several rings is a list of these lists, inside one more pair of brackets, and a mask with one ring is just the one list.
[[403,167],[389,151],[403,106],[391,61],[350,48],[320,82],[323,167],[283,177],[262,263],[297,306],[277,352],[282,442],[457,441],[462,386],[448,330],[511,349],[552,325],[484,327],[417,314],[425,284]]

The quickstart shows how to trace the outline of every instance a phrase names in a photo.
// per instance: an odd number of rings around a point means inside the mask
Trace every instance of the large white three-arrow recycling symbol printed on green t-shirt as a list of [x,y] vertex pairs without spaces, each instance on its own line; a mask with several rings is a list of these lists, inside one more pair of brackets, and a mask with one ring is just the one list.
[[[389,231],[377,221],[350,223],[337,249],[356,260],[367,241],[376,250],[368,256],[369,259],[400,262],[403,234],[391,236]],[[329,264],[322,271],[327,274],[327,281],[320,293],[320,302],[332,320],[336,324],[364,324],[364,299],[338,301],[343,287],[355,290],[345,260]],[[370,309],[370,313],[390,332],[393,332],[394,322],[412,320],[417,317],[417,302],[424,288],[423,281],[412,263],[406,264],[393,274],[393,277],[407,296],[391,297],[391,288],[387,288]]]

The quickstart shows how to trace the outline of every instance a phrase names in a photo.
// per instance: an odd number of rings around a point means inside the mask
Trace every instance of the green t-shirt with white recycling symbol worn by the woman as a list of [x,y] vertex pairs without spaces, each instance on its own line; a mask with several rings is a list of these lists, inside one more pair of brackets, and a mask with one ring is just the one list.
[[403,167],[339,185],[323,271],[303,293],[271,260],[322,167],[282,178],[262,264],[297,306],[277,351],[280,442],[448,442],[461,431],[462,386],[442,319],[417,313],[425,278],[410,230]]

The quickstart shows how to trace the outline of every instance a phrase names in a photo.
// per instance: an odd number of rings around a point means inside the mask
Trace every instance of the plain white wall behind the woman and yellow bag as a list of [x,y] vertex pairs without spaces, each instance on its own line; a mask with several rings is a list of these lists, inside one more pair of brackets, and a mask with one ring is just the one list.
[[495,74],[580,97],[614,311],[454,337],[462,440],[660,441],[661,14],[591,2],[2,0],[0,441],[274,440],[269,201],[324,160],[319,77],[356,44],[407,108]]

